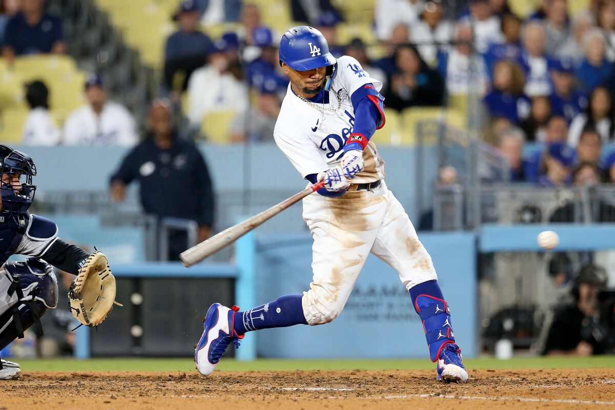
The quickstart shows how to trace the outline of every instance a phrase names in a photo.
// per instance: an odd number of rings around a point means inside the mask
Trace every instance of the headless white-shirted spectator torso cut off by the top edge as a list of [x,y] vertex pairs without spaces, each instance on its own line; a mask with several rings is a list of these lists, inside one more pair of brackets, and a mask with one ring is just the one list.
[[376,37],[381,41],[389,41],[393,28],[399,23],[410,28],[418,21],[424,7],[423,0],[376,0]]

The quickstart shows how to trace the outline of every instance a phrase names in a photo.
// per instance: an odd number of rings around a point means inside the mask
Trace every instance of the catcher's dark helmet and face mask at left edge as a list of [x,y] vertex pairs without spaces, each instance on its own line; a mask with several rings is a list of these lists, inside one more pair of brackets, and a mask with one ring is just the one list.
[[[36,185],[32,184],[36,176],[36,165],[28,154],[0,145],[0,194],[4,211],[25,213],[34,199]],[[15,189],[12,179],[19,176],[21,187]]]

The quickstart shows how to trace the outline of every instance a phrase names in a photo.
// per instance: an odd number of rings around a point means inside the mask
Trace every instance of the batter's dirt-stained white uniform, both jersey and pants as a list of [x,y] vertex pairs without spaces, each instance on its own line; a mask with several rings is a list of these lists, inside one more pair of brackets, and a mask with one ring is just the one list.
[[[331,82],[330,103],[325,104],[327,108],[341,104],[336,111],[306,103],[288,86],[274,138],[301,176],[327,170],[338,162],[354,128],[350,96],[370,82],[381,89],[382,83],[365,73],[357,60],[340,57]],[[384,162],[373,142],[363,150],[363,159],[365,168],[352,183],[384,179]],[[339,315],[370,252],[397,269],[407,289],[437,278],[429,253],[384,181],[369,191],[350,189],[336,198],[308,195],[303,199],[303,219],[314,239],[314,275],[310,290],[301,299],[309,325],[327,323]]]

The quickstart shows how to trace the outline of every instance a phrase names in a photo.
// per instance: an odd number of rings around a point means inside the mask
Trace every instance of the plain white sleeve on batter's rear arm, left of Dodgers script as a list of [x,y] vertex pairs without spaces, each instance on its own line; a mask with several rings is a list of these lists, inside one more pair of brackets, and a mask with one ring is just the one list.
[[331,168],[322,159],[318,147],[311,140],[293,138],[293,135],[284,131],[276,131],[273,134],[277,146],[284,152],[293,166],[301,174],[301,178],[306,175],[317,174]]

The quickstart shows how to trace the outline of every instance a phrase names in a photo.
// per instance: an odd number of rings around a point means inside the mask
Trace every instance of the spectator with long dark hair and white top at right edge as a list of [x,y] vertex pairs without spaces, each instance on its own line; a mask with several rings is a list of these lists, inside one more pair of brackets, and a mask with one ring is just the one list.
[[613,97],[609,90],[605,87],[595,88],[589,96],[589,103],[585,112],[577,114],[570,124],[568,144],[576,146],[585,127],[592,127],[597,130],[603,144],[613,140],[613,112]]

